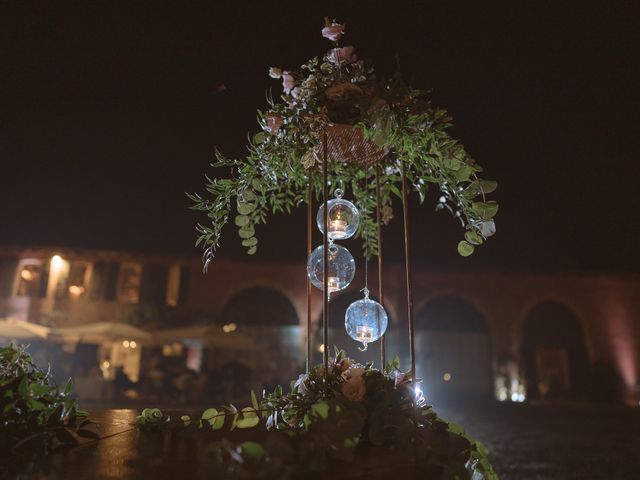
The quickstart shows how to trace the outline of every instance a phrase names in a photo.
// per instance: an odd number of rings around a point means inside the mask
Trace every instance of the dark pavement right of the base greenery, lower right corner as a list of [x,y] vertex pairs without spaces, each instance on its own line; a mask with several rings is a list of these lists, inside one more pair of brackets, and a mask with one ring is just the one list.
[[437,407],[489,448],[501,480],[640,480],[640,408]]

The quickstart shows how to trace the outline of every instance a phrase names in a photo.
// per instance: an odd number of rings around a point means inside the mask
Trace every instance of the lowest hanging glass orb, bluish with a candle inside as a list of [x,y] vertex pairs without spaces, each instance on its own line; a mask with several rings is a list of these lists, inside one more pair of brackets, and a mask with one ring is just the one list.
[[369,298],[365,291],[362,300],[353,302],[344,315],[344,328],[354,340],[361,342],[361,351],[365,351],[371,342],[378,340],[387,330],[387,312],[378,302]]

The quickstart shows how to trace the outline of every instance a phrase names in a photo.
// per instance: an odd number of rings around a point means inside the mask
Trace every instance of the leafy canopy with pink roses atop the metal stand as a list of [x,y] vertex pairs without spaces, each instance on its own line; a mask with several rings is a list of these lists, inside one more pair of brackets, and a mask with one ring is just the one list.
[[[209,195],[189,194],[192,208],[206,212],[210,225],[197,225],[196,245],[204,248],[205,269],[214,258],[222,229],[230,217],[238,228],[247,253],[257,251],[256,226],[265,224],[269,213],[291,212],[307,201],[311,183],[316,198],[322,192],[319,174],[322,134],[335,126],[358,130],[362,141],[378,148],[381,175],[382,218],[393,217],[392,199],[401,198],[401,162],[404,162],[411,190],[420,202],[429,185],[440,195],[436,210],[445,209],[465,228],[458,252],[467,256],[495,233],[495,201],[486,194],[495,181],[478,177],[482,168],[448,130],[451,118],[446,110],[431,105],[426,92],[408,86],[400,73],[378,77],[352,46],[341,47],[345,26],[325,19],[322,34],[334,48],[314,57],[300,70],[271,68],[272,78],[281,79],[283,94],[269,108],[258,111],[262,131],[253,135],[243,159],[229,159],[216,151],[213,167],[225,168],[229,178],[207,177]],[[367,254],[377,253],[375,189],[371,166],[358,162],[332,161],[329,176],[333,188],[351,189],[356,205],[364,212],[357,235]]]

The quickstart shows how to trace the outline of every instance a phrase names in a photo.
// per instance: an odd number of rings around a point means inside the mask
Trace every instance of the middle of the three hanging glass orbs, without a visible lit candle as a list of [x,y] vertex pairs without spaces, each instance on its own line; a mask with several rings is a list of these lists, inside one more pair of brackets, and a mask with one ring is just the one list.
[[[347,288],[356,274],[353,256],[340,245],[329,245],[328,294]],[[307,274],[314,287],[324,289],[324,247],[320,245],[307,261]]]

